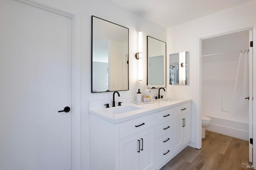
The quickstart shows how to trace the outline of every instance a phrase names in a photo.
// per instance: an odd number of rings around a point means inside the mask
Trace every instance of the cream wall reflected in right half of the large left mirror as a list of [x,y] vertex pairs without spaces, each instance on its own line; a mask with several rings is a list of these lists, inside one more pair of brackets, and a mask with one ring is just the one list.
[[[120,50],[116,50],[120,49]],[[108,41],[108,90],[114,91],[116,89],[122,89],[123,82],[123,43],[118,41]]]

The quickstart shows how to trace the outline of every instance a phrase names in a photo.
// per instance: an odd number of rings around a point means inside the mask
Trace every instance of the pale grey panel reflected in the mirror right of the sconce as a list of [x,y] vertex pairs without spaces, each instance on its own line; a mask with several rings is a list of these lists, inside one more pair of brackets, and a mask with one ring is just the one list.
[[149,84],[164,84],[164,56],[155,56],[148,58],[148,83]]

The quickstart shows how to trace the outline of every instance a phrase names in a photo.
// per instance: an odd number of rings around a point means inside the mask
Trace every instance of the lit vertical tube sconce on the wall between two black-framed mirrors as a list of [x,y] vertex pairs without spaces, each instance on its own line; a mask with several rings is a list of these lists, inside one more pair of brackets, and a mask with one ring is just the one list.
[[139,31],[138,37],[138,53],[135,54],[138,60],[138,80],[142,81],[142,31]]

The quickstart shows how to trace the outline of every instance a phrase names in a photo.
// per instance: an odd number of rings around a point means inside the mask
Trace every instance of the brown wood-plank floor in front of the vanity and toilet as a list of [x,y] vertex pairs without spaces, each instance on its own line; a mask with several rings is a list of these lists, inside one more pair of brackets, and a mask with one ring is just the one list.
[[202,149],[186,147],[160,170],[244,170],[248,141],[206,131]]

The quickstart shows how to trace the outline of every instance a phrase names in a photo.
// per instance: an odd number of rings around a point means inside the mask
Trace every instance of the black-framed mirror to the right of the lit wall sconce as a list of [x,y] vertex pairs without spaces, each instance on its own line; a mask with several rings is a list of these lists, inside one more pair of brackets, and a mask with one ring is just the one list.
[[166,43],[147,36],[147,85],[166,87]]

